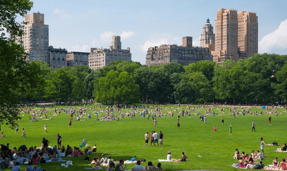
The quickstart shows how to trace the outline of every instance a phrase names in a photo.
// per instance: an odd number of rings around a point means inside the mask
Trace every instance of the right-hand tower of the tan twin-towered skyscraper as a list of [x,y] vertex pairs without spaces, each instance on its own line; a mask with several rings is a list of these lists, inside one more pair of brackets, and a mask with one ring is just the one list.
[[[258,17],[256,12],[238,13],[238,48],[249,58],[258,53]],[[241,58],[241,56],[239,56]]]

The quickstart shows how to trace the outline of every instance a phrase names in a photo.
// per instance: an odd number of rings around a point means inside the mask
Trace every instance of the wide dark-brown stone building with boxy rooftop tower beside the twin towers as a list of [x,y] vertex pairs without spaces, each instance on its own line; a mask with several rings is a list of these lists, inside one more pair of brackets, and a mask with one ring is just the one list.
[[182,37],[182,46],[160,45],[148,48],[146,55],[147,66],[163,65],[176,62],[182,66],[201,60],[212,61],[208,47],[192,46],[192,37]]

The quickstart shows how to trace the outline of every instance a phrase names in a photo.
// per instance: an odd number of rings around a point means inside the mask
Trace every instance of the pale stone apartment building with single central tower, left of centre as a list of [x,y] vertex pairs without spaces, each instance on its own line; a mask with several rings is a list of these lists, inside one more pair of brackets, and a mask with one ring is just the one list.
[[110,62],[116,60],[131,61],[132,54],[130,48],[122,49],[120,36],[113,36],[111,46],[106,48],[91,48],[91,53],[88,56],[88,66],[95,70],[109,65]]

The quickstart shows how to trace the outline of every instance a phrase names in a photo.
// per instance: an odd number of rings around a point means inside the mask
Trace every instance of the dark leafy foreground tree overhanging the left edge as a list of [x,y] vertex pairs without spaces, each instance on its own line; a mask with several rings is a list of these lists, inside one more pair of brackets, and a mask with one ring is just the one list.
[[38,88],[38,79],[41,81],[40,67],[26,61],[27,54],[24,48],[14,40],[5,37],[3,31],[10,36],[22,36],[22,23],[15,21],[19,15],[24,17],[30,11],[33,2],[28,0],[2,0],[0,8],[0,124],[6,123],[11,128],[16,126],[14,120],[20,118],[17,102],[21,97],[30,94]]

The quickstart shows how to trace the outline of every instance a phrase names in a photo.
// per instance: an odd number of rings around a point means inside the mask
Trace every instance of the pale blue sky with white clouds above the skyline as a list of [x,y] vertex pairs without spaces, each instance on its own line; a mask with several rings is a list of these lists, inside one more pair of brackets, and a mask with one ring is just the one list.
[[[49,25],[49,46],[68,52],[109,48],[120,36],[122,49],[130,47],[132,61],[145,64],[149,47],[182,45],[193,37],[200,46],[202,28],[209,18],[214,27],[218,9],[256,12],[258,53],[287,54],[286,0],[32,0],[29,13],[44,14]],[[17,17],[17,21],[23,21]],[[215,30],[215,27],[214,27]]]

